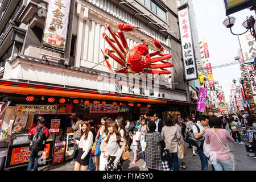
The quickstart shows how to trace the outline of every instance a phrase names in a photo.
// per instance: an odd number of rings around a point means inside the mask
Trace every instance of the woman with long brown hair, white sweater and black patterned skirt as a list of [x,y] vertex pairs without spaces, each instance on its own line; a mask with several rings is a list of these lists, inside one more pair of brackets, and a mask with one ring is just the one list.
[[109,135],[108,135],[108,138],[106,139],[108,154],[105,154],[105,157],[108,158],[107,170],[121,171],[122,162],[120,159],[123,154],[125,143],[124,143],[123,137],[118,131],[117,122],[114,122],[114,121],[110,122],[108,130],[109,130]]

